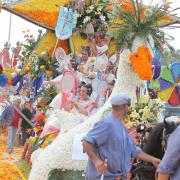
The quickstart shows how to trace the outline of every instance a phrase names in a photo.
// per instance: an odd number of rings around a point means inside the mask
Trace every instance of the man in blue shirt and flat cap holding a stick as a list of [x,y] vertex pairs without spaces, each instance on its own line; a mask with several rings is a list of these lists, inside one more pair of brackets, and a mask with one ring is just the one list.
[[111,99],[112,113],[95,124],[84,137],[83,147],[89,161],[86,180],[124,180],[131,170],[132,158],[138,158],[157,166],[160,162],[136,147],[123,125],[123,118],[129,111],[131,99],[117,94]]

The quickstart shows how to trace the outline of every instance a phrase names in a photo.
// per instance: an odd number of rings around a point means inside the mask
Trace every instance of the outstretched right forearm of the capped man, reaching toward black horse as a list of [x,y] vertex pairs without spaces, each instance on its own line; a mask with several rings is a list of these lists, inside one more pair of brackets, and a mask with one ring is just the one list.
[[155,167],[158,167],[158,165],[160,163],[160,159],[157,159],[157,158],[155,158],[147,153],[144,153],[144,152],[140,152],[139,154],[137,154],[137,156],[135,158],[140,159],[145,162],[152,163]]

